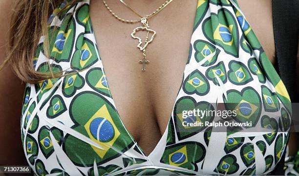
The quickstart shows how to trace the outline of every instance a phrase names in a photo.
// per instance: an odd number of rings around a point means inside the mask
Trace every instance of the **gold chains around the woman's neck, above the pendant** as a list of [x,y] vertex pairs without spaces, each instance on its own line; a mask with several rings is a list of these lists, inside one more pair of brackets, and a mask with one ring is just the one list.
[[166,0],[160,7],[158,7],[155,11],[153,11],[151,14],[146,15],[145,17],[142,17],[141,15],[139,15],[138,13],[136,13],[131,7],[128,6],[128,4],[126,4],[123,0],[120,0],[126,7],[128,7],[131,11],[133,11],[136,15],[138,15],[140,18],[138,20],[124,20],[120,17],[118,17],[118,15],[116,15],[111,9],[110,7],[107,5],[107,2],[105,0],[103,0],[103,3],[105,5],[105,7],[107,8],[107,10],[110,12],[110,14],[115,17],[117,20],[120,20],[122,22],[125,23],[137,23],[140,22],[142,18],[146,18],[146,19],[150,19],[151,17],[157,15],[161,10],[163,10],[172,0]]

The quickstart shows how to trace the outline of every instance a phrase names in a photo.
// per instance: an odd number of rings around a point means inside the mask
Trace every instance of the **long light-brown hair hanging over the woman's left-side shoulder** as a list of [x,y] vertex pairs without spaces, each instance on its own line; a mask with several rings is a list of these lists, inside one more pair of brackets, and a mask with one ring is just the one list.
[[[61,77],[61,74],[37,72],[33,68],[33,58],[41,36],[45,36],[43,50],[49,58],[47,22],[52,13],[59,15],[64,9],[55,10],[65,0],[19,0],[11,18],[7,58],[0,65],[0,70],[11,64],[15,74],[25,82],[37,83],[44,79]],[[68,0],[72,5],[78,0]],[[65,5],[65,6],[67,6]],[[49,65],[50,66],[50,65]]]

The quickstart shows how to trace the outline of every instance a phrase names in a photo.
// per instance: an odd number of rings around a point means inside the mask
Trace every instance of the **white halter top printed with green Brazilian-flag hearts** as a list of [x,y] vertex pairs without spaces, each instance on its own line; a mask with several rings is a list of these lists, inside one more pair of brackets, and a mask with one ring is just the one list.
[[[288,142],[291,102],[236,0],[198,0],[182,84],[168,127],[149,155],[115,107],[89,0],[65,1],[58,11],[48,21],[50,58],[42,36],[33,63],[36,71],[51,67],[65,76],[27,83],[22,106],[22,145],[36,175],[266,175],[275,169]],[[216,102],[235,103],[236,121],[273,132],[182,125],[215,120],[182,114],[215,109]]]

